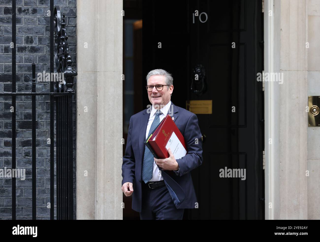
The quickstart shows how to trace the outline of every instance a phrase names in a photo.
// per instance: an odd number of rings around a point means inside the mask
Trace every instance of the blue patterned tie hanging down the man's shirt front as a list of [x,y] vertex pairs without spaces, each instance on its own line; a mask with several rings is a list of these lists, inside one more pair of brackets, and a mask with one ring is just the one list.
[[[151,128],[149,130],[148,137],[151,135],[151,132],[157,127],[160,123],[159,115],[161,114],[160,110],[156,111],[156,117],[151,124]],[[144,157],[143,157],[143,164],[142,164],[142,180],[144,183],[147,183],[152,178],[153,173],[153,162],[154,156],[149,150],[147,146],[145,146]]]

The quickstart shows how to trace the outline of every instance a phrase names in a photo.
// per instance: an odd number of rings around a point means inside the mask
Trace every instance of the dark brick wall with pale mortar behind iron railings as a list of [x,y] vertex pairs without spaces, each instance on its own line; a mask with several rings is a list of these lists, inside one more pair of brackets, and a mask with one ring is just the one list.
[[[16,91],[31,92],[31,63],[37,72],[50,72],[49,0],[16,0]],[[67,16],[68,44],[76,69],[76,0],[54,0]],[[0,92],[12,92],[12,1],[0,0]],[[76,88],[76,86],[75,86]],[[37,83],[37,92],[50,92],[50,84]],[[76,103],[74,96],[74,219],[76,219]],[[11,168],[12,113],[11,96],[0,96],[0,168]],[[16,179],[17,219],[32,219],[31,96],[16,97],[16,166],[26,169],[26,179]],[[50,98],[36,96],[36,219],[50,219]],[[55,126],[55,124],[54,124]],[[55,161],[54,161],[55,162]],[[56,176],[56,172],[54,172]],[[54,182],[56,186],[56,180]],[[12,219],[10,178],[0,178],[0,220]],[[56,194],[56,191],[55,191]],[[56,198],[54,200],[56,206]],[[55,209],[56,215],[56,209]],[[56,218],[55,218],[56,219]]]

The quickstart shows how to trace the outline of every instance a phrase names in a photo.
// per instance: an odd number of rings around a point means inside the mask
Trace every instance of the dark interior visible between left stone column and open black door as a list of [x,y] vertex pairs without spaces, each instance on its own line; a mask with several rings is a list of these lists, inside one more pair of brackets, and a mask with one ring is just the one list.
[[[123,138],[127,140],[130,117],[142,106],[142,0],[124,0],[123,19]],[[123,155],[125,145],[123,146]],[[140,219],[132,210],[132,196],[123,195],[123,219]]]

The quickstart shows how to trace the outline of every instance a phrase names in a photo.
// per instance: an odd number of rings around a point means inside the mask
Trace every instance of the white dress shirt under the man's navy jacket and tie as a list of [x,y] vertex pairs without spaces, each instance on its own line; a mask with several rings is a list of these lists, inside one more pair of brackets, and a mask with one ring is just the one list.
[[[160,122],[167,116],[169,108],[171,105],[171,101],[169,101],[166,105],[164,105],[162,108],[160,108],[161,114],[159,115]],[[161,106],[160,106],[161,107]],[[148,120],[147,130],[146,130],[146,139],[148,138],[148,134],[151,128],[151,124],[156,116],[156,109],[152,105],[151,113]],[[179,169],[178,169],[179,171]],[[178,171],[175,171],[176,174]],[[161,176],[161,172],[159,171],[159,168],[156,164],[156,162],[153,162],[153,171],[152,171],[152,178],[149,181],[161,181],[163,180],[163,177]]]

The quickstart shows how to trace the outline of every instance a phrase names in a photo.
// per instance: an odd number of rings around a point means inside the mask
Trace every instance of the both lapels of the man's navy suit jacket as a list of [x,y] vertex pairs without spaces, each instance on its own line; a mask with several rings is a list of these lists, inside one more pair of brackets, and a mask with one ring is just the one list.
[[[143,142],[146,140],[147,125],[150,117],[150,113],[147,113],[147,110],[148,109],[143,110],[142,112],[143,115],[140,118],[139,149],[140,149],[140,155],[141,155],[142,161],[143,161],[143,155],[145,150],[145,145]],[[171,111],[173,111],[173,113]],[[179,115],[178,115],[178,108],[176,105],[172,103],[172,101],[171,101],[171,105],[168,110],[168,113],[170,116],[173,117],[173,122],[175,122]]]

